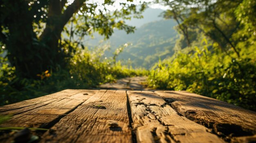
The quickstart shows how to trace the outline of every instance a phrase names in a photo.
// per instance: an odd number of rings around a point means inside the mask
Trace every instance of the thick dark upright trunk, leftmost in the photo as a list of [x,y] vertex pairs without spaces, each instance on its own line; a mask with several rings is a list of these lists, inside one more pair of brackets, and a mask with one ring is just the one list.
[[9,17],[9,36],[6,42],[8,59],[16,68],[18,77],[35,78],[41,71],[42,60],[38,55],[38,42],[33,31],[33,15],[29,15],[28,5],[23,0],[10,0],[7,9],[15,9]]

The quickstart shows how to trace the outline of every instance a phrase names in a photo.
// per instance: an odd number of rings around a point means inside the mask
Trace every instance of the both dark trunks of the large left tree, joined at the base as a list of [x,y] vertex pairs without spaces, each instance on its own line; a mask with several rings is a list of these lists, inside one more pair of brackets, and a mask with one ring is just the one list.
[[15,66],[18,77],[37,79],[36,75],[45,70],[54,70],[56,67],[66,65],[59,45],[61,32],[84,1],[75,0],[61,13],[65,0],[49,0],[46,28],[39,39],[33,31],[34,15],[28,11],[27,1],[9,1],[7,9],[15,9],[15,11],[13,10],[11,14],[13,16],[8,18],[9,39],[6,46],[9,61]]

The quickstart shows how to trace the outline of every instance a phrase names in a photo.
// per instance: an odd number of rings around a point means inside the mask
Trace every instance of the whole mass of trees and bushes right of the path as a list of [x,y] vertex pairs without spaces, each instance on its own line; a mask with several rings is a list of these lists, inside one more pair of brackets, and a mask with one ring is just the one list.
[[[176,21],[181,20],[182,23],[177,22],[179,30],[197,30],[196,35],[187,36],[193,39],[191,47],[187,44],[188,47],[153,67],[149,86],[187,90],[255,111],[256,1],[163,0],[162,3],[171,8],[164,13],[165,17],[177,16]],[[180,33],[183,40],[180,38],[176,45],[184,45],[186,33]]]

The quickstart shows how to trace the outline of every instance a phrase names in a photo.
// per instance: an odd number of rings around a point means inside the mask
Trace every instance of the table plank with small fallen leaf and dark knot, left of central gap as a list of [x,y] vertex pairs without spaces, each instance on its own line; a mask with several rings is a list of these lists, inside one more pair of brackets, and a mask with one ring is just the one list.
[[[45,132],[41,142],[130,143],[126,101],[126,91],[100,90]],[[118,127],[110,127],[107,120],[117,121]]]

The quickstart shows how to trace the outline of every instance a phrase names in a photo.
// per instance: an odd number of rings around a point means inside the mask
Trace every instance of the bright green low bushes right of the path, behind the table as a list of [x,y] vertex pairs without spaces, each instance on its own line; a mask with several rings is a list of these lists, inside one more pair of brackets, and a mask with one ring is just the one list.
[[[232,58],[217,44],[195,47],[190,54],[176,53],[173,60],[159,61],[148,77],[150,87],[189,92],[256,110],[256,59]],[[255,44],[247,49],[255,54]],[[211,51],[208,50],[211,48]]]

